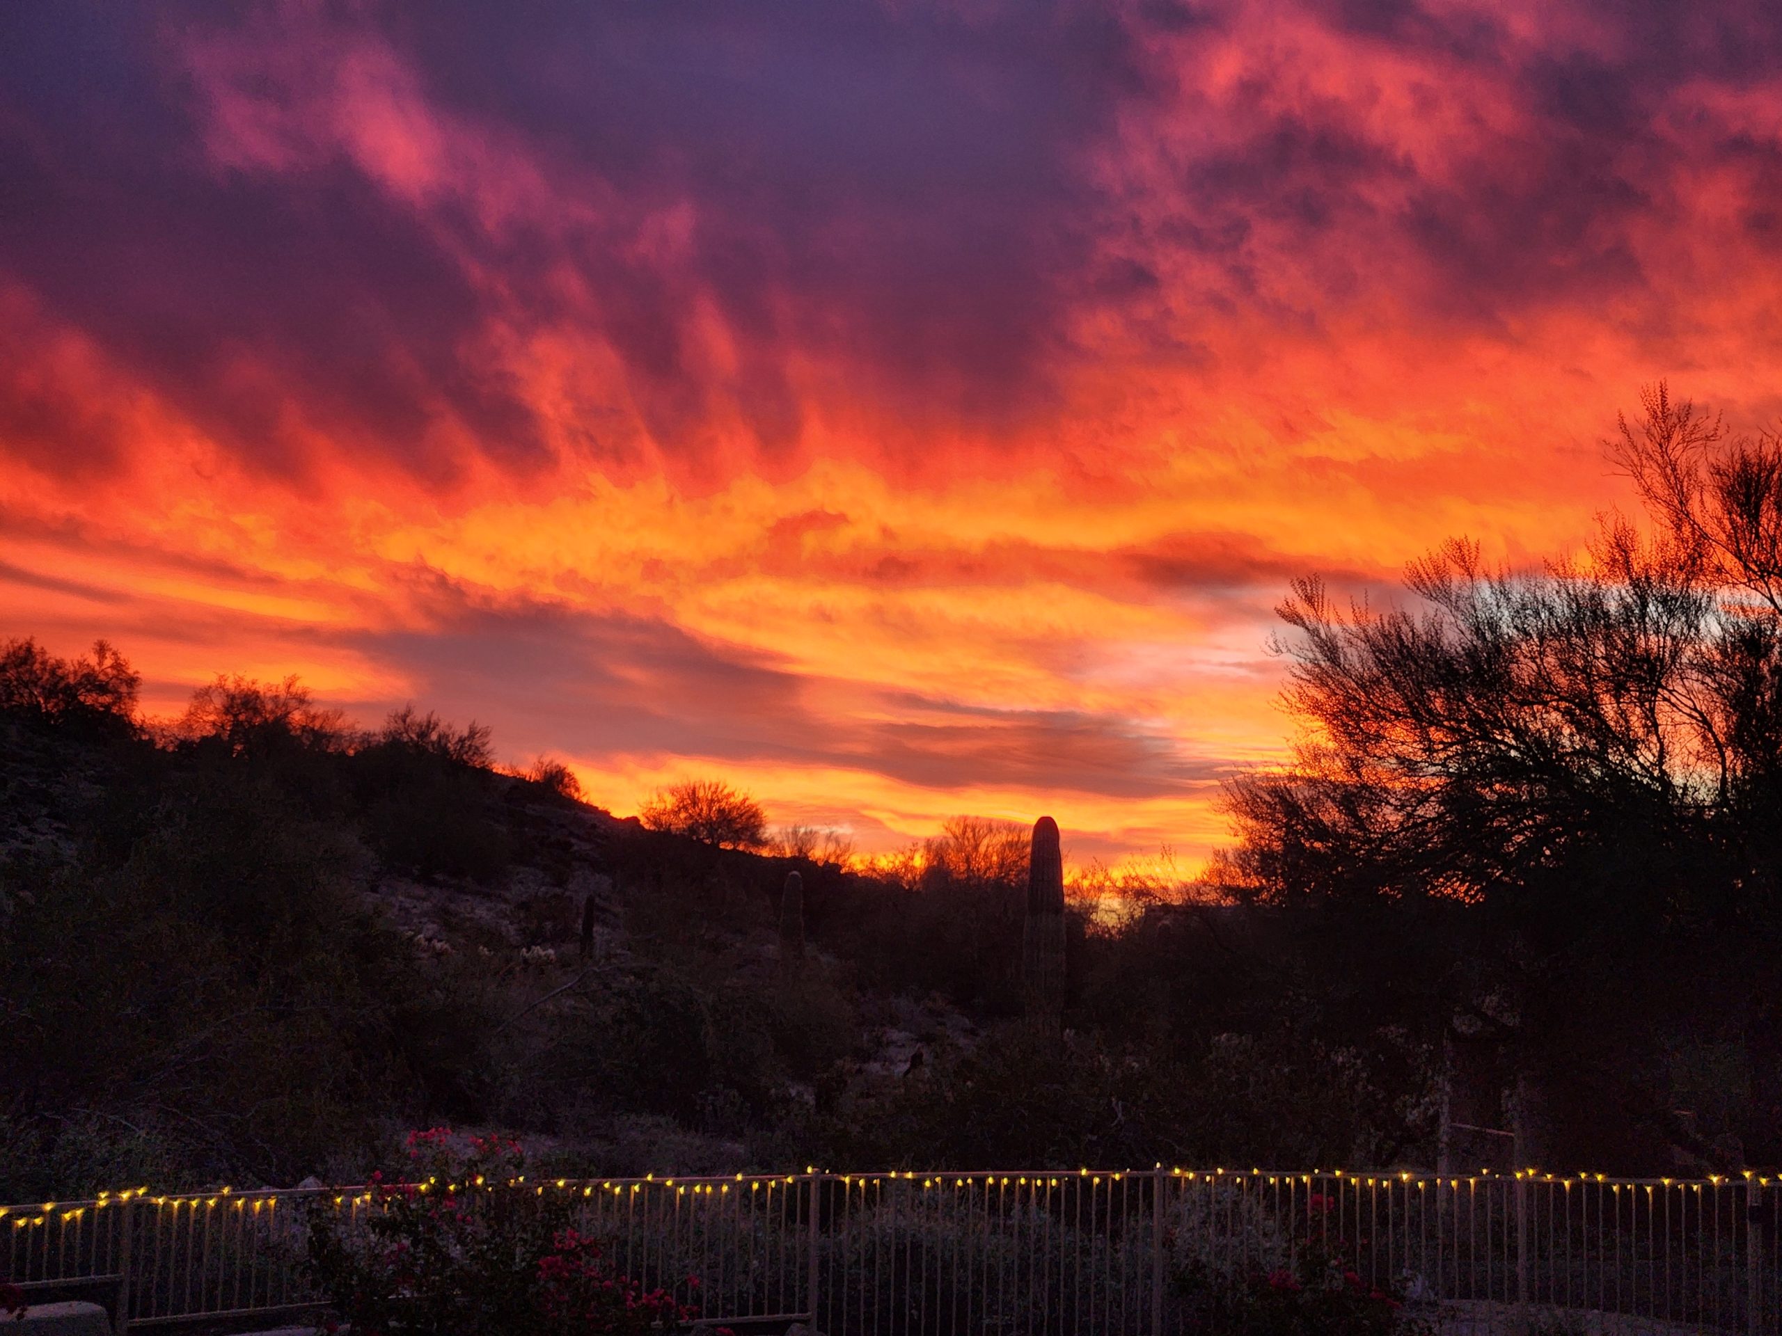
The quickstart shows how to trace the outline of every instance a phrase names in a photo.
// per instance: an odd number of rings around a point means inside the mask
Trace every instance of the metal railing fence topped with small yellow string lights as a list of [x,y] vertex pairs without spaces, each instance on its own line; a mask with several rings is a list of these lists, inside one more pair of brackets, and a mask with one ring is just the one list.
[[[524,1185],[706,1322],[830,1336],[1174,1336],[1212,1295],[1328,1268],[1438,1331],[1782,1336],[1782,1183],[1520,1174],[1028,1170]],[[5,1274],[105,1300],[118,1331],[248,1331],[317,1307],[310,1211],[362,1190],[0,1208]],[[697,1277],[697,1293],[690,1277]]]

